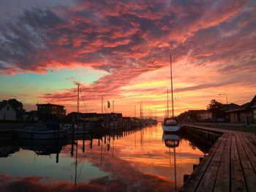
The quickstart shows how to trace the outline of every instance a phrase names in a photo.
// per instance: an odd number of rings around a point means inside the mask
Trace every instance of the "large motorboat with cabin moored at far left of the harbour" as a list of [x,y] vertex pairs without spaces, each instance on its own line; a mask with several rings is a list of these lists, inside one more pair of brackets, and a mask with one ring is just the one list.
[[59,139],[67,136],[59,123],[38,123],[36,126],[16,129],[20,139]]

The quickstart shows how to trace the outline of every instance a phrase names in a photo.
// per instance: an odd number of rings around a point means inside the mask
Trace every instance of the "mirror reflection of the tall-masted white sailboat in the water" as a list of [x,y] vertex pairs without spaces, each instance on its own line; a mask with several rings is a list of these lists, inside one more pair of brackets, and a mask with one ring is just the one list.
[[162,134],[162,139],[165,141],[165,146],[169,147],[169,158],[171,156],[170,149],[173,149],[175,191],[177,191],[176,147],[178,147],[181,137],[178,134],[167,134],[164,132]]

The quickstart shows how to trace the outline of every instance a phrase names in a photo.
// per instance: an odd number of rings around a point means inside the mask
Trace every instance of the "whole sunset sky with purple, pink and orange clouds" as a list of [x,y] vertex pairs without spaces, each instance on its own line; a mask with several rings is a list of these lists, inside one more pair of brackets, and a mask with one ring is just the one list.
[[[256,94],[256,1],[0,1],[0,99],[126,116]],[[219,93],[222,95],[219,96]],[[170,95],[169,95],[170,96]],[[108,109],[107,109],[108,110]]]

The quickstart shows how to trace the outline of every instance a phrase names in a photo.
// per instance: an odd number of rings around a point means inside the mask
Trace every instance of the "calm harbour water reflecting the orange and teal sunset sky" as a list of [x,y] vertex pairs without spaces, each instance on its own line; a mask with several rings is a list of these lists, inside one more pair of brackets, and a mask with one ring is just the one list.
[[159,123],[94,138],[92,145],[90,140],[1,144],[0,191],[176,191],[204,154],[185,135],[179,137],[163,136]]

